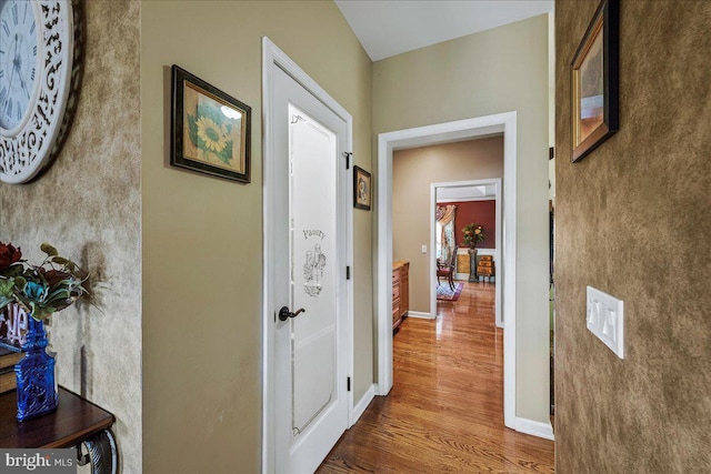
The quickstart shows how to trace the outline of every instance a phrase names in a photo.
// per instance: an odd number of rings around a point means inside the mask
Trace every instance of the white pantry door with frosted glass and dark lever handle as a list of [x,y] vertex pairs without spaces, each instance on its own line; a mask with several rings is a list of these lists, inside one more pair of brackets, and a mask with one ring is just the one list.
[[270,91],[274,471],[311,473],[349,417],[348,124],[279,68]]

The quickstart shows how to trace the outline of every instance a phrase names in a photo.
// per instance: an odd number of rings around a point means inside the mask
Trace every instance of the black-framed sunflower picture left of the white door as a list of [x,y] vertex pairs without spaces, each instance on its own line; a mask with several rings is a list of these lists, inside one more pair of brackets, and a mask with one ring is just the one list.
[[170,164],[250,182],[252,108],[172,65]]

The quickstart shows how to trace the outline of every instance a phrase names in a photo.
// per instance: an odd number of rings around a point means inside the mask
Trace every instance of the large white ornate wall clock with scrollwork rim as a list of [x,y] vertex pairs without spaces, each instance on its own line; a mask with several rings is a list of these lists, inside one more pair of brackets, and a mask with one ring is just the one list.
[[0,181],[24,183],[59,151],[80,82],[80,7],[0,0]]

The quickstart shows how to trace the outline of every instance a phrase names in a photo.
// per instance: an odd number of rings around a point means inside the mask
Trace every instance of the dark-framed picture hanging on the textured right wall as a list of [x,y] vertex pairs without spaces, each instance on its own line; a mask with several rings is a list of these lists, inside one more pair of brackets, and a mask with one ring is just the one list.
[[619,128],[619,0],[602,0],[571,62],[572,161]]

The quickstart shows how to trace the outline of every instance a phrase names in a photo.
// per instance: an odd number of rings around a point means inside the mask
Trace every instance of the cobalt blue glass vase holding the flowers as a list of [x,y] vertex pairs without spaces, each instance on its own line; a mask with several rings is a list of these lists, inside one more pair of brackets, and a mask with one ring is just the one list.
[[31,315],[22,349],[24,357],[14,366],[18,382],[18,420],[24,421],[57,409],[54,357],[47,353],[44,324]]

